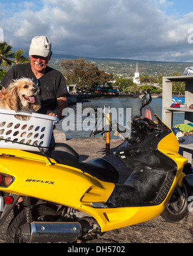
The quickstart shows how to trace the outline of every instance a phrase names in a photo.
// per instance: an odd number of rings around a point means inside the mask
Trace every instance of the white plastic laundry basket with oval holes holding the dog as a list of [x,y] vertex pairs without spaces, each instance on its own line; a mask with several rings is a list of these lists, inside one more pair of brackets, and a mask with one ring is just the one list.
[[[18,119],[21,115],[27,120]],[[55,116],[0,109],[0,148],[39,151],[40,147],[47,151],[58,122]]]

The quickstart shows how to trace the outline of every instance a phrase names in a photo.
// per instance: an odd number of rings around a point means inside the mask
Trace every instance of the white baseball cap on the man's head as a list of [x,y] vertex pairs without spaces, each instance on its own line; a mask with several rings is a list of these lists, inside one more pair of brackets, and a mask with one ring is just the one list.
[[47,57],[51,52],[51,41],[47,36],[35,36],[32,38],[29,55]]

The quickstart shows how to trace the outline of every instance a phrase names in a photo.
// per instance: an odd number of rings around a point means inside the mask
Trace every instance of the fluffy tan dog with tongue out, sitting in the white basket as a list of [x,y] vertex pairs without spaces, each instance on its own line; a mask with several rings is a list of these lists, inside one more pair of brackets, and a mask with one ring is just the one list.
[[0,109],[38,111],[41,107],[38,87],[29,78],[12,81],[1,95]]

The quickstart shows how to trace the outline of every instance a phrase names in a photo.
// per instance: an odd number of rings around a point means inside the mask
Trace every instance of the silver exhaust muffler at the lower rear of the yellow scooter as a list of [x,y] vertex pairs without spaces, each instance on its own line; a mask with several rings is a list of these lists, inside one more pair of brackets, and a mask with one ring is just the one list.
[[17,237],[23,242],[74,242],[81,237],[78,222],[32,222],[18,230]]

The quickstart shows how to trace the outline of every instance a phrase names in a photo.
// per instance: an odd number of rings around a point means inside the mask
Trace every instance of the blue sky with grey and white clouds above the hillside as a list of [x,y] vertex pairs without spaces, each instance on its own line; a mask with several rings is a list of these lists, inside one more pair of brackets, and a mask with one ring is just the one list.
[[0,0],[0,13],[14,50],[46,35],[55,54],[193,62],[192,0]]

